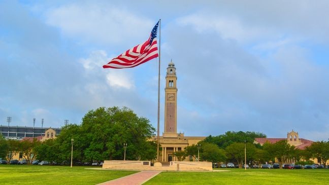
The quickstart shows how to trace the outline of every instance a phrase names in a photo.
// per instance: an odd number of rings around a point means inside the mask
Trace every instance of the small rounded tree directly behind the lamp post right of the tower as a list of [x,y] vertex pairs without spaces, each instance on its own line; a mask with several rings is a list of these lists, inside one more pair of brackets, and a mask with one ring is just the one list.
[[[242,164],[245,159],[245,143],[235,142],[226,147],[226,156],[228,159],[235,160],[239,168],[242,168]],[[256,152],[256,147],[252,143],[246,143],[246,158],[247,161],[251,160]]]

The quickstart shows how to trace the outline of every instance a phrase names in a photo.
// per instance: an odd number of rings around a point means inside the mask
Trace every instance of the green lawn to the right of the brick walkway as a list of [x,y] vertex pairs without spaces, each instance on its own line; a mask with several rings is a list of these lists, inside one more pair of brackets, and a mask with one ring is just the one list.
[[227,170],[229,171],[162,172],[144,184],[329,184],[329,169]]

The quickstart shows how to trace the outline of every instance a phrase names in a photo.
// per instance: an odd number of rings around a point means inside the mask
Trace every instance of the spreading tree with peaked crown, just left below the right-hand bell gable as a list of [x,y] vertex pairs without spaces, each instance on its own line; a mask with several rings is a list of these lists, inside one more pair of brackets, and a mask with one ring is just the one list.
[[282,164],[289,158],[293,157],[294,146],[290,145],[286,139],[277,141],[274,144],[265,143],[264,150],[268,151],[272,157],[277,158],[282,168]]

